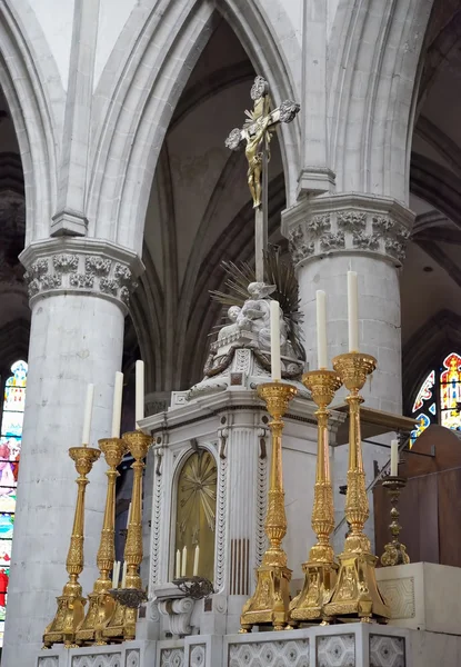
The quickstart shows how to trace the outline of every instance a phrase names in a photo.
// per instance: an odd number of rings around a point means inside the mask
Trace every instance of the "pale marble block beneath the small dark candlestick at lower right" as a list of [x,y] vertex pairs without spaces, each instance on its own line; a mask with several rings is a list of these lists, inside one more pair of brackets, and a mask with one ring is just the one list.
[[392,625],[461,636],[461,568],[411,563],[378,568],[377,580]]

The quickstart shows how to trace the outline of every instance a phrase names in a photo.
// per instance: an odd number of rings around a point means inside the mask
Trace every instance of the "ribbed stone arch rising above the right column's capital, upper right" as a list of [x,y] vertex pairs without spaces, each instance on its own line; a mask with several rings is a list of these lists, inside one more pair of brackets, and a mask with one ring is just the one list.
[[328,112],[338,190],[408,201],[414,93],[432,1],[340,0]]

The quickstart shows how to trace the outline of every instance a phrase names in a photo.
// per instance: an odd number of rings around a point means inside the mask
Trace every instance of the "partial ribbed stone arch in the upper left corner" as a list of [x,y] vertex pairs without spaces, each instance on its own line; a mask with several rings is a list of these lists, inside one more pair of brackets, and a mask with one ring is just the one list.
[[1,2],[0,44],[0,86],[14,125],[24,175],[27,245],[49,236],[57,192],[57,122],[49,96],[51,92],[57,103],[62,102],[63,109],[63,90],[27,0]]

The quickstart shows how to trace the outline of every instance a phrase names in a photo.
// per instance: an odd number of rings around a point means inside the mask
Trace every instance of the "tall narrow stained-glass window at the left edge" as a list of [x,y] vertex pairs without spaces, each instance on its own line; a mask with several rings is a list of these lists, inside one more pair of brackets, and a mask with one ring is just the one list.
[[0,646],[3,645],[27,371],[26,361],[11,366],[12,375],[4,384],[0,429]]

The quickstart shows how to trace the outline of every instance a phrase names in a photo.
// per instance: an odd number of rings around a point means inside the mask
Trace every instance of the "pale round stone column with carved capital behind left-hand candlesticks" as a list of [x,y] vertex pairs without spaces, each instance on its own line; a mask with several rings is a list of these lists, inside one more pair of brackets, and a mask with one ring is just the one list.
[[[33,667],[67,580],[77,477],[68,449],[81,445],[86,387],[93,382],[91,445],[109,435],[123,319],[142,265],[108,241],[47,239],[21,256],[32,310],[23,441],[2,664]],[[87,492],[83,595],[97,574],[106,498],[102,459]]]

